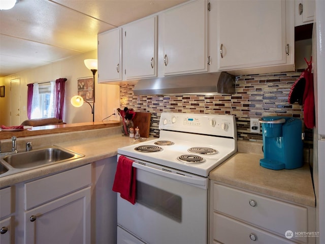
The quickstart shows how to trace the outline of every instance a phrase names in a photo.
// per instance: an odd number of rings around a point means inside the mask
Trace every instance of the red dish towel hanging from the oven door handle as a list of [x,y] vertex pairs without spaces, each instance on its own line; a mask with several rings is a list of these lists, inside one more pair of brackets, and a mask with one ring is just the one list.
[[113,183],[113,191],[119,192],[121,198],[136,203],[136,168],[132,167],[133,161],[120,156]]

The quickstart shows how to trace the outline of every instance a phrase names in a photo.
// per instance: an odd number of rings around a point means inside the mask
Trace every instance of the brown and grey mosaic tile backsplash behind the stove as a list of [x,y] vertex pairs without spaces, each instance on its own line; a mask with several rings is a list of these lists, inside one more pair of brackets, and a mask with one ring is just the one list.
[[[250,118],[293,116],[304,118],[303,106],[288,104],[288,94],[302,71],[238,76],[234,95],[135,96],[134,85],[120,85],[121,107],[151,112],[150,136],[159,137],[161,112],[233,114],[238,140],[263,141],[250,133]],[[312,144],[312,130],[305,130],[305,144]]]

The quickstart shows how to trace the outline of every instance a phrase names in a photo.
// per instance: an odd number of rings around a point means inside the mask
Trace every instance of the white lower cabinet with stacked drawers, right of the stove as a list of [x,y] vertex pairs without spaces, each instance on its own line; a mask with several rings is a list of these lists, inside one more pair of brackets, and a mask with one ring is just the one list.
[[[210,243],[315,243],[315,208],[211,180]],[[292,235],[288,234],[292,233]]]

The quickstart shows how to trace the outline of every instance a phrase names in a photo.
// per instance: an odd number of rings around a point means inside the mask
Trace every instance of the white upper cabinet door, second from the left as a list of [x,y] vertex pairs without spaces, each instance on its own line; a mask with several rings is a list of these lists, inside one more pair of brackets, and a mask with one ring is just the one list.
[[157,16],[138,20],[123,28],[125,77],[155,77],[157,73]]

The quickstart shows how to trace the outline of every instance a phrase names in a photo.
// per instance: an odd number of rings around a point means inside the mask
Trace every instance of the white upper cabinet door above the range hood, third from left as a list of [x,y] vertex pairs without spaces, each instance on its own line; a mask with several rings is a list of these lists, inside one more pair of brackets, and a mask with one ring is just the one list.
[[190,2],[164,13],[165,75],[208,71],[206,1]]

